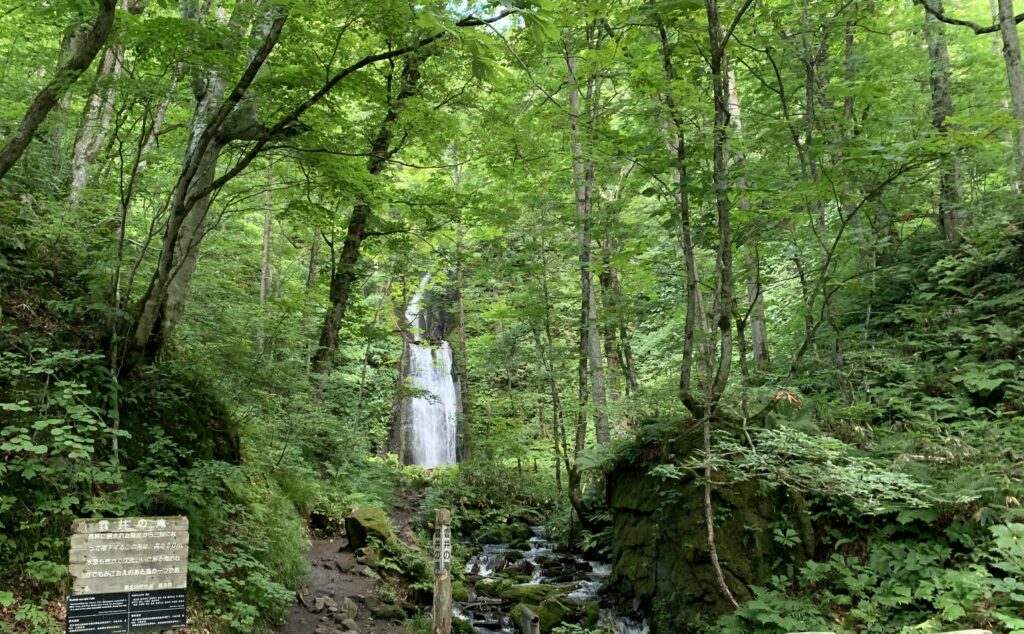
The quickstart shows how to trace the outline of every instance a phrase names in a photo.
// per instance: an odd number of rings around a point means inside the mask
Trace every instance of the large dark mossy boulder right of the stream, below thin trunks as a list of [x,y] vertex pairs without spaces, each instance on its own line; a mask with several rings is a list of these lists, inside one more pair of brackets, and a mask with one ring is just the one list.
[[[713,619],[731,605],[711,563],[702,485],[692,478],[662,481],[649,475],[656,462],[623,462],[608,476],[614,531],[608,586],[648,615],[671,614],[679,624],[674,627],[685,628],[697,616]],[[770,530],[781,519],[779,498],[753,481],[713,492],[719,560],[738,600],[748,598],[750,585],[771,576],[771,563],[781,554]]]

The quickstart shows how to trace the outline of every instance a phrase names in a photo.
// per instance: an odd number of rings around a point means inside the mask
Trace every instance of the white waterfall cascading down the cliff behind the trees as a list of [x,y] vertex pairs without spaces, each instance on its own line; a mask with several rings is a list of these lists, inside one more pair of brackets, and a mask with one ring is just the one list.
[[409,350],[409,379],[421,395],[409,399],[407,422],[409,448],[413,464],[427,469],[457,461],[456,435],[459,421],[459,399],[452,377],[452,346],[441,341],[436,347],[419,343],[425,326],[420,303],[430,274],[424,276],[420,288],[409,302],[406,319],[413,333]]

